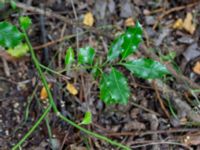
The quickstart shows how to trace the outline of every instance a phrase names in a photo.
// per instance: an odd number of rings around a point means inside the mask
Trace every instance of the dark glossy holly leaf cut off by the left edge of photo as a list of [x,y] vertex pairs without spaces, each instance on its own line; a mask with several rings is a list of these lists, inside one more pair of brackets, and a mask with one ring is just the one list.
[[16,26],[8,22],[0,22],[0,45],[6,48],[14,48],[23,39],[23,34]]

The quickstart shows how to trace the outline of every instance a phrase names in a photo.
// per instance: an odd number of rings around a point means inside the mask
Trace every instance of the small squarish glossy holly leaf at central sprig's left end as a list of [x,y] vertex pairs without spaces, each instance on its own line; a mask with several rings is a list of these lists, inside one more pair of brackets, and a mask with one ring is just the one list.
[[79,64],[92,64],[95,56],[95,50],[92,47],[80,48],[78,51]]

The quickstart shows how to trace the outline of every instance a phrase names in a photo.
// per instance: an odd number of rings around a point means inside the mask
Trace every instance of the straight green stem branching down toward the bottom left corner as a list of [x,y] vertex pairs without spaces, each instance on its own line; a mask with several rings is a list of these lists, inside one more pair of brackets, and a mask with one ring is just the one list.
[[23,136],[23,138],[12,148],[12,150],[16,150],[24,141],[33,133],[33,131],[39,126],[39,124],[42,122],[42,120],[46,117],[46,115],[51,110],[51,105],[47,107],[47,109],[44,111],[42,116],[36,121],[36,123],[31,127],[31,129]]

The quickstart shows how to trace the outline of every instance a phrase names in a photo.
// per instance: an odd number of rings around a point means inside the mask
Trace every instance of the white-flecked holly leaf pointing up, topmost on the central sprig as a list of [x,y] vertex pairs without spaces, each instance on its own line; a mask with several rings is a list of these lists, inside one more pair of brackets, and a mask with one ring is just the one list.
[[114,40],[108,52],[108,60],[112,61],[120,54],[122,59],[125,59],[137,50],[141,41],[142,26],[137,22],[135,27],[129,27],[124,34]]

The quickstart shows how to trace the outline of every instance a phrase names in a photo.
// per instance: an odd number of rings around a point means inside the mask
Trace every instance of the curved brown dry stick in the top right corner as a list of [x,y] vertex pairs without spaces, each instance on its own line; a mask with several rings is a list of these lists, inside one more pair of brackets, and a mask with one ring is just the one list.
[[154,24],[153,26],[153,29],[155,30],[159,24],[159,22],[161,21],[161,19],[163,19],[165,16],[173,13],[173,12],[176,12],[176,11],[180,11],[180,10],[183,10],[185,8],[189,8],[189,7],[193,7],[195,6],[196,4],[198,4],[198,1],[192,3],[192,4],[188,4],[186,6],[179,6],[179,7],[174,7],[174,8],[171,8],[169,9],[168,11],[165,11],[162,15],[160,15],[156,21],[156,23]]

